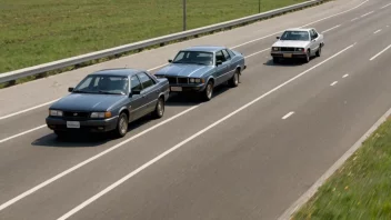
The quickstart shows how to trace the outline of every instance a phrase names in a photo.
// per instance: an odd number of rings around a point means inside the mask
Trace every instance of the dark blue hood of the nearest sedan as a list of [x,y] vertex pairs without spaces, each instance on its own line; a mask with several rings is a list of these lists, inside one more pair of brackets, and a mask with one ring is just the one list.
[[71,93],[50,108],[64,111],[107,111],[126,98],[127,96],[119,94]]

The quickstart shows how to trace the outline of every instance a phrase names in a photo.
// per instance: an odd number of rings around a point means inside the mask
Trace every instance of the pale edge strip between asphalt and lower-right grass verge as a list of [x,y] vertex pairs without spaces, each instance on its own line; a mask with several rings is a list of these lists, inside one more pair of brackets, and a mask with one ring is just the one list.
[[294,201],[278,220],[288,220],[297,210],[307,203],[318,191],[318,189],[362,146],[367,140],[391,114],[389,109],[333,166],[331,166],[322,177],[320,177],[312,187],[305,191],[297,201]]

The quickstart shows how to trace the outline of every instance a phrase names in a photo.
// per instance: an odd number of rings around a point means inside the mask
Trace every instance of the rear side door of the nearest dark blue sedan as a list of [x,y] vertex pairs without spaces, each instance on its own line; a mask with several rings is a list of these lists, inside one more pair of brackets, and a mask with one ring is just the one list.
[[156,88],[157,84],[154,80],[151,79],[146,72],[139,73],[138,77],[142,84],[141,96],[146,100],[143,114],[147,114],[154,110],[158,101],[159,90]]

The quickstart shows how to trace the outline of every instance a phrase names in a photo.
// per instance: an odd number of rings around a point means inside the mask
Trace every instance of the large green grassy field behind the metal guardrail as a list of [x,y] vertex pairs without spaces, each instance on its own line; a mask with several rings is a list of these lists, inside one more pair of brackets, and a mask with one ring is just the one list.
[[[258,0],[187,0],[188,29],[258,13]],[[262,11],[304,0],[261,0]],[[0,72],[182,30],[182,0],[0,0]]]

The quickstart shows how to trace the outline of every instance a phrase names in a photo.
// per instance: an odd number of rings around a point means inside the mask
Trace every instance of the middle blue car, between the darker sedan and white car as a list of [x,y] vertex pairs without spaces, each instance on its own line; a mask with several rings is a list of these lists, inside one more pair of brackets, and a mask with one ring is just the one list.
[[167,78],[171,92],[199,92],[205,100],[212,98],[213,88],[219,84],[238,87],[245,69],[242,53],[219,46],[187,48],[169,62],[154,76]]

